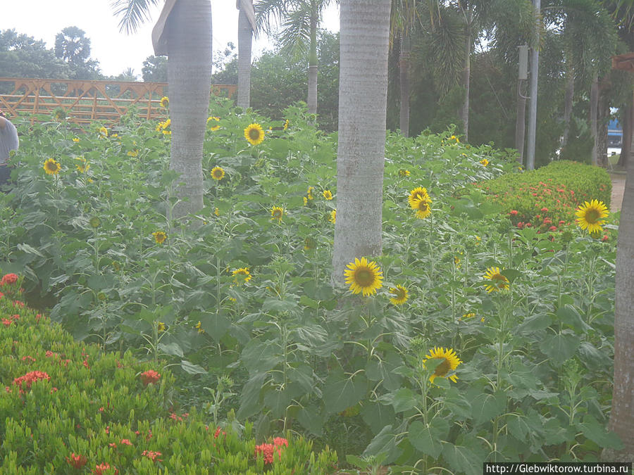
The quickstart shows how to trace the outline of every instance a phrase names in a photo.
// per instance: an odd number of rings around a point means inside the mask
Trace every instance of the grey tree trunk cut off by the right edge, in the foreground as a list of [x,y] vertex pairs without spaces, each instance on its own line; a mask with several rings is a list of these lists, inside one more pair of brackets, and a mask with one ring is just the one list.
[[616,245],[616,311],[614,315],[614,388],[609,429],[624,448],[605,450],[606,460],[634,460],[634,165],[628,166],[619,241]]

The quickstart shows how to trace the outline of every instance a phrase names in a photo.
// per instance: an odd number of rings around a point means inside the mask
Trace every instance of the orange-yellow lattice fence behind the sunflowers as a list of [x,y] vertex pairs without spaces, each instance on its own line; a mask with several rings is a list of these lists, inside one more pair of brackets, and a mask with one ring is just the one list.
[[[0,109],[9,117],[28,113],[51,116],[59,108],[69,122],[83,125],[92,120],[116,122],[135,106],[146,119],[165,117],[161,97],[166,82],[126,82],[0,77]],[[211,86],[211,94],[231,97],[237,86]],[[33,118],[32,120],[35,120]]]

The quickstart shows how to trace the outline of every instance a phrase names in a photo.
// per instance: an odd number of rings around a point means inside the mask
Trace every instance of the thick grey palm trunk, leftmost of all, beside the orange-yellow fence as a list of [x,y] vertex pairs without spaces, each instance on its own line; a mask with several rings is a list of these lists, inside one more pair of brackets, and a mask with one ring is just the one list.
[[211,86],[211,4],[180,0],[168,18],[168,83],[172,140],[170,170],[179,201],[179,219],[203,207],[202,148]]

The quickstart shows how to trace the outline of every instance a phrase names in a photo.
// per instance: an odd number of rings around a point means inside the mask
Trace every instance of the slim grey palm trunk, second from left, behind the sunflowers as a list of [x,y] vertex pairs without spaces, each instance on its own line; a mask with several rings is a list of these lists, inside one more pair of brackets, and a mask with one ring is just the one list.
[[238,14],[238,96],[237,105],[246,109],[251,103],[251,42],[256,31],[253,0],[237,0]]

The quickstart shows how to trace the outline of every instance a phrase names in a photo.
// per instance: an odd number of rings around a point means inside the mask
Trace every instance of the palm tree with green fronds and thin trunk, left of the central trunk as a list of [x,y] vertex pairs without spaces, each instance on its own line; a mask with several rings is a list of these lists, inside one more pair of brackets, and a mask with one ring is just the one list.
[[[271,33],[271,13],[282,20],[282,50],[296,57],[308,55],[308,109],[317,113],[317,28],[324,8],[333,0],[260,0],[256,4],[259,23]],[[337,3],[339,0],[335,0]]]

